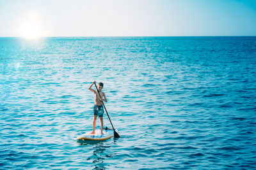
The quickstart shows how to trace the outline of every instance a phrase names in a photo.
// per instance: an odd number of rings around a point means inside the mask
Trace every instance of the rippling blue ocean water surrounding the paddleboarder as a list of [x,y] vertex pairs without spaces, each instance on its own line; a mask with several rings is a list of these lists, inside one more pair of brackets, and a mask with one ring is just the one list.
[[256,37],[0,38],[0,113],[0,169],[255,169]]

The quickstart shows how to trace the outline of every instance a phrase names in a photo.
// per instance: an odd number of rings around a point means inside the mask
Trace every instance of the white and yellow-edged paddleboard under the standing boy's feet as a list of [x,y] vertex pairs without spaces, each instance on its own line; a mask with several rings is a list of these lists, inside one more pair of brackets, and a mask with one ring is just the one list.
[[[116,130],[117,131],[117,130]],[[100,130],[96,130],[95,134],[90,134],[90,132],[86,132],[85,134],[82,134],[80,136],[77,136],[77,140],[83,140],[83,141],[103,141],[106,139],[109,139],[114,136],[114,131],[112,129],[105,130],[103,129],[103,134],[100,134]]]

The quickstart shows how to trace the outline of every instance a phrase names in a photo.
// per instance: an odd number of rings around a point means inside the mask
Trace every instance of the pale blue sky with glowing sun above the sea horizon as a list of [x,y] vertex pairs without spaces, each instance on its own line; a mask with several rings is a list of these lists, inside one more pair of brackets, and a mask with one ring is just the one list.
[[256,36],[256,1],[0,0],[13,36]]

